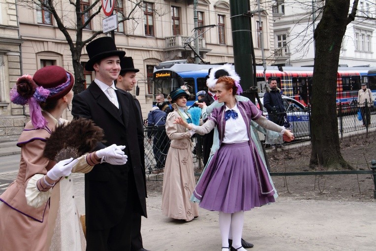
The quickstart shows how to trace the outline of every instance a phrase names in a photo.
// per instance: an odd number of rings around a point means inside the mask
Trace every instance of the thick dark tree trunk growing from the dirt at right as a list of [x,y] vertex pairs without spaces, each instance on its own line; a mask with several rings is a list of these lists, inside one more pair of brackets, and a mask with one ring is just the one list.
[[341,155],[336,107],[338,63],[349,4],[349,0],[327,0],[314,31],[311,167],[351,168]]

